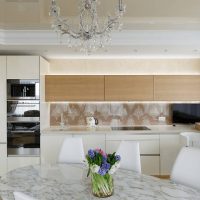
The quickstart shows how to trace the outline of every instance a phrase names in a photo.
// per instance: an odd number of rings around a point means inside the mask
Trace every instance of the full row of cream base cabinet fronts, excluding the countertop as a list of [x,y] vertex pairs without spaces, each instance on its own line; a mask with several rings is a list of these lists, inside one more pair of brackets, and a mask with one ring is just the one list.
[[142,173],[148,175],[170,175],[180,150],[179,134],[102,134],[52,133],[41,135],[41,163],[55,164],[66,137],[82,137],[85,154],[90,148],[101,148],[107,153],[115,152],[122,140],[138,141],[140,144]]

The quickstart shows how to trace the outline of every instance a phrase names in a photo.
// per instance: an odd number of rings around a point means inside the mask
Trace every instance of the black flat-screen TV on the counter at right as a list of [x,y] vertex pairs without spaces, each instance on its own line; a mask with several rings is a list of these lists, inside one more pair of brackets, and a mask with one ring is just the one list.
[[172,104],[172,123],[200,122],[200,104]]

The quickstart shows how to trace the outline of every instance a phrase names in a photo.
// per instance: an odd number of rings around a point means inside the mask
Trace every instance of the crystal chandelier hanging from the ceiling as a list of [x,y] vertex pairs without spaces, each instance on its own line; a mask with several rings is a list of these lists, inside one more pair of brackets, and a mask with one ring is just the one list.
[[122,0],[118,1],[119,5],[115,10],[115,16],[108,16],[103,21],[98,19],[97,15],[98,0],[80,0],[79,27],[74,28],[68,19],[60,17],[60,8],[57,6],[56,0],[52,0],[49,13],[53,18],[52,28],[61,39],[67,38],[69,47],[77,47],[86,53],[103,48],[111,40],[111,31],[120,30],[122,26],[120,18],[125,13],[125,6]]

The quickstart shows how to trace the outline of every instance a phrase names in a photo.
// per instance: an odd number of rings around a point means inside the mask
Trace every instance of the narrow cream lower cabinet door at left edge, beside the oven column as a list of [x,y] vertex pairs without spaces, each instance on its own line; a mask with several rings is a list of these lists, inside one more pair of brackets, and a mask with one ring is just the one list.
[[0,144],[0,176],[7,172],[7,144]]

